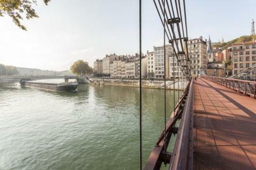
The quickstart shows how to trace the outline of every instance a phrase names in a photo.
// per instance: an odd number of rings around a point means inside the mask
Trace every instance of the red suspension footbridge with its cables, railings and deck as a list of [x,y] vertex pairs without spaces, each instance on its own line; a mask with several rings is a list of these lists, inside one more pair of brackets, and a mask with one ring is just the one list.
[[[239,74],[232,78],[203,75],[194,79],[188,55],[185,0],[153,1],[163,25],[164,47],[166,41],[172,45],[173,57],[177,58],[182,72],[178,80],[173,81],[186,80],[187,85],[178,96],[178,103],[173,103],[170,117],[166,113],[164,93],[163,132],[146,164],[142,165],[140,74],[140,169],[161,169],[164,165],[170,170],[256,169],[256,82],[239,80]],[[139,21],[141,56],[141,0]],[[164,61],[165,58],[164,51]],[[240,74],[253,69],[251,67]],[[175,141],[174,145],[170,145],[171,139]]]

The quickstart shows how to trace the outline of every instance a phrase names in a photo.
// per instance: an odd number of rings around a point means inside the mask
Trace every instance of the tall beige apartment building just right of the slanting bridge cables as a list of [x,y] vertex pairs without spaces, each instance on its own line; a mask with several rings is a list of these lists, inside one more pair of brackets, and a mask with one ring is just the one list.
[[[211,48],[208,49],[208,52],[211,53]],[[188,41],[188,54],[191,63],[191,74],[201,75],[202,71],[206,73],[208,62],[207,45],[202,36]]]

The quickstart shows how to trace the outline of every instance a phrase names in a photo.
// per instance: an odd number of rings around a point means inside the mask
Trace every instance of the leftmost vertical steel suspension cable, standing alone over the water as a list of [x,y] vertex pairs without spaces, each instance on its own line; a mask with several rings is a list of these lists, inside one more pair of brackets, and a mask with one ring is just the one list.
[[142,56],[141,56],[141,51],[142,51],[142,49],[141,49],[141,1],[142,0],[139,0],[139,48],[140,48],[140,170],[142,170],[142,83],[141,83],[141,58],[142,58]]

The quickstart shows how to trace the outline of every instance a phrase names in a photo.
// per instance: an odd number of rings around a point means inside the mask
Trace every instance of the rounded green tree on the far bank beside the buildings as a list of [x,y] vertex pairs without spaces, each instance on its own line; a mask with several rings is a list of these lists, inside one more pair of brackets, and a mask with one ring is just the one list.
[[76,75],[93,73],[92,67],[90,67],[89,64],[87,62],[84,62],[83,60],[78,60],[73,65],[71,65],[70,71]]

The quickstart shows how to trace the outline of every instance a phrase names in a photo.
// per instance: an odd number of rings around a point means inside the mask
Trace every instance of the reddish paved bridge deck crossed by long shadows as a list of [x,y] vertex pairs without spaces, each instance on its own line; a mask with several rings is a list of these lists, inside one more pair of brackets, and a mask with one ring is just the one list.
[[256,169],[256,99],[205,79],[194,90],[195,169]]

